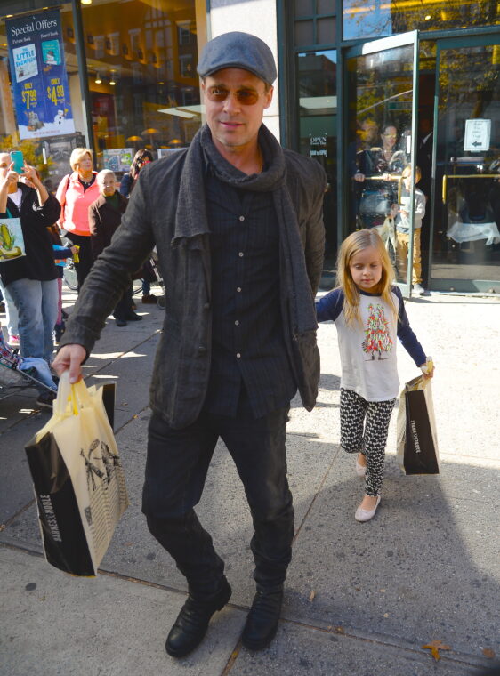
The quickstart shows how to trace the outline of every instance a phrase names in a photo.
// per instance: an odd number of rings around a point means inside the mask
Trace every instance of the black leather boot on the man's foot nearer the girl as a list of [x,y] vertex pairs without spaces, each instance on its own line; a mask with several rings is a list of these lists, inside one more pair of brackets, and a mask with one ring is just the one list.
[[257,591],[241,637],[245,648],[261,650],[269,646],[278,629],[282,602],[283,590]]

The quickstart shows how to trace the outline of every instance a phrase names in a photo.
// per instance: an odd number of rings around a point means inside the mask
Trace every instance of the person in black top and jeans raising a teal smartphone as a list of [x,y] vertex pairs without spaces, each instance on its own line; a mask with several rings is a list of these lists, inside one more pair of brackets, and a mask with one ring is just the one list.
[[[19,157],[17,160],[19,167]],[[58,286],[48,227],[59,218],[60,204],[49,195],[35,167],[23,163],[22,174],[33,188],[19,180],[11,155],[0,153],[0,216],[20,219],[26,250],[25,256],[0,262],[0,277],[19,313],[22,357],[43,358],[50,364]],[[37,403],[52,407],[52,398],[46,392]]]

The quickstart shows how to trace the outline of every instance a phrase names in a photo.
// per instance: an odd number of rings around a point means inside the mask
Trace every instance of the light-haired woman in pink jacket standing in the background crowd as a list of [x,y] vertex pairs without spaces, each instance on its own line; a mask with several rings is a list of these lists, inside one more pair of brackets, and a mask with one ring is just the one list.
[[65,229],[66,237],[74,246],[79,246],[77,270],[78,291],[93,265],[90,229],[88,221],[89,206],[99,197],[99,188],[95,181],[97,172],[93,171],[93,153],[88,148],[76,148],[69,157],[73,173],[60,181],[56,197],[62,207],[59,227]]

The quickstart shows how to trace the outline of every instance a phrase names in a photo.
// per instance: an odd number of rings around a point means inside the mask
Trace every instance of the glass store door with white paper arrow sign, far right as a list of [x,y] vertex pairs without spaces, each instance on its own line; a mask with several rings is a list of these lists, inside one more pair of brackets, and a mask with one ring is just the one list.
[[438,42],[431,288],[500,293],[498,35]]

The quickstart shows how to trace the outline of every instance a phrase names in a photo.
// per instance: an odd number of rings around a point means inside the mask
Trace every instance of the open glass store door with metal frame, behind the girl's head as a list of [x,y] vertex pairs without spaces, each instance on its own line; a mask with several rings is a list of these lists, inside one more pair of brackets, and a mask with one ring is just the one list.
[[[409,295],[413,237],[421,220],[415,189],[416,31],[359,44],[346,52],[348,228],[376,228]],[[407,176],[407,178],[405,178]],[[345,199],[345,197],[344,197]],[[420,233],[417,233],[420,235]]]

